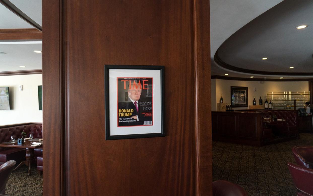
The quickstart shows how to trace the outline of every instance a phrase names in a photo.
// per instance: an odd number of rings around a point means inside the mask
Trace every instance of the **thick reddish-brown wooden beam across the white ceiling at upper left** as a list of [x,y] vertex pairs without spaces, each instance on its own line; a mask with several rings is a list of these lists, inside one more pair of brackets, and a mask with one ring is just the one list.
[[0,40],[42,40],[37,29],[0,29]]

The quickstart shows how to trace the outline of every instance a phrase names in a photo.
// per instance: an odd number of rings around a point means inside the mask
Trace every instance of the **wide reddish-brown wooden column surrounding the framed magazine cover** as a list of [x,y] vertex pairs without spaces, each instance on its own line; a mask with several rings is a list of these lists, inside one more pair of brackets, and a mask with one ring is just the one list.
[[[43,8],[44,195],[211,195],[208,1],[64,3],[64,53],[62,5]],[[165,137],[104,140],[105,64],[165,66]]]

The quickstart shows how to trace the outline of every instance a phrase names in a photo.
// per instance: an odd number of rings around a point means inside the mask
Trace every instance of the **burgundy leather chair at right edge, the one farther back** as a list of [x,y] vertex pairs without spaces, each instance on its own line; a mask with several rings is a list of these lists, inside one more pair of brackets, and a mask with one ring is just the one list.
[[298,165],[313,169],[313,146],[295,146],[292,152]]

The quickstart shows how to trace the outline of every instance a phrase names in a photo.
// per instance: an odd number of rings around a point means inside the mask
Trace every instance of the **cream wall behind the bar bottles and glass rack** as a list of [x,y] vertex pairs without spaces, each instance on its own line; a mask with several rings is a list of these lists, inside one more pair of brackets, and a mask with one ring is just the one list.
[[[214,87],[215,85],[215,87]],[[212,111],[216,111],[217,103],[223,95],[224,103],[231,103],[230,101],[230,87],[248,87],[248,105],[252,105],[253,97],[259,105],[259,99],[262,97],[263,104],[265,98],[267,98],[267,92],[308,92],[309,91],[309,82],[264,82],[261,84],[259,81],[237,81],[237,80],[221,80],[221,79],[212,79],[211,89],[215,89],[215,96],[212,92]],[[254,87],[256,91],[254,91]],[[237,109],[248,109],[248,107],[233,108]]]

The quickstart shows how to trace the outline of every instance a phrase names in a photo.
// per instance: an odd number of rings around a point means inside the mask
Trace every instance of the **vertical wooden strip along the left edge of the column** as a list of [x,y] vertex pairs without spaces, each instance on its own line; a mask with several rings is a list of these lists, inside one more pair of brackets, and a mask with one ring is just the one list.
[[43,0],[43,195],[64,194],[62,4]]

